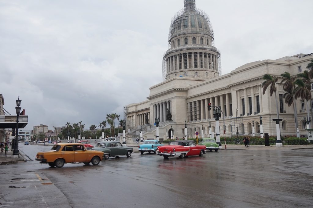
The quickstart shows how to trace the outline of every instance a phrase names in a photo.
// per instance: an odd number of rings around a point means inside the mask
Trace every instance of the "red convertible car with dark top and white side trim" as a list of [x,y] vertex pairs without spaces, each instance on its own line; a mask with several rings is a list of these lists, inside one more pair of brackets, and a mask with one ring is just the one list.
[[185,156],[198,155],[202,156],[205,153],[205,145],[195,145],[192,140],[174,140],[170,141],[168,145],[159,146],[156,149],[156,154],[163,155],[164,158],[171,156]]

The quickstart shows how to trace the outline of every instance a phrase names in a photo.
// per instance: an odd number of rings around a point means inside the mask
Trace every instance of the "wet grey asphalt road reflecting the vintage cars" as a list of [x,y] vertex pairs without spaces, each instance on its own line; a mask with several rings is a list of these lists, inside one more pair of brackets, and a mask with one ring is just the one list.
[[[32,160],[50,148],[20,147]],[[312,162],[312,149],[134,153],[63,168],[27,161],[1,166],[0,190],[10,207],[312,207]]]

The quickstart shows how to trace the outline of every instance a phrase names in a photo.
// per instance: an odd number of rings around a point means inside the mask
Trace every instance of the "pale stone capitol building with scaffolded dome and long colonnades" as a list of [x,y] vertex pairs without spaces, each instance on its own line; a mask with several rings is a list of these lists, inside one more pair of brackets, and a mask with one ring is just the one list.
[[[278,77],[276,82],[281,135],[296,135],[293,107],[285,103],[282,77],[307,70],[312,54],[296,54],[276,60],[255,61],[221,75],[221,53],[214,45],[214,32],[208,16],[196,8],[195,0],[184,0],[184,8],[171,22],[170,47],[164,54],[163,82],[151,86],[147,100],[124,107],[126,130],[136,136],[142,129],[144,139],[156,138],[155,118],[160,118],[159,138],[183,138],[185,121],[187,136],[194,138],[195,130],[209,136],[220,129],[220,136],[260,135],[260,116],[263,132],[276,135],[277,118],[275,96],[269,90],[262,94],[263,75]],[[166,43],[165,43],[166,44]],[[257,57],[256,57],[257,60]],[[147,86],[148,87],[148,86]],[[213,110],[218,106],[223,114],[219,126],[215,124]],[[300,135],[307,135],[304,118],[305,101],[296,100]],[[168,116],[168,114],[171,116]],[[201,135],[200,135],[201,137]]]

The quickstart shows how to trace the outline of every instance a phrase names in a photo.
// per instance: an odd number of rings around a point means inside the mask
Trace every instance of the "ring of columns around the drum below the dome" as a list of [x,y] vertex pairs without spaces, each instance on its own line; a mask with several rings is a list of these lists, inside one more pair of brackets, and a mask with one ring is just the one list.
[[188,52],[177,53],[167,57],[167,72],[180,69],[197,68],[212,69],[218,71],[218,57],[212,53]]

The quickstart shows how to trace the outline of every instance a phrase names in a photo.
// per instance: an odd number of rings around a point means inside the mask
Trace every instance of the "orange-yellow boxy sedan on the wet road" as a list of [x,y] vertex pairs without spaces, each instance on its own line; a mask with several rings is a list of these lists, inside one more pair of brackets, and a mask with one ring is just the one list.
[[98,165],[103,158],[103,152],[87,150],[83,144],[59,143],[47,152],[38,152],[36,161],[61,168],[65,163],[84,163]]

